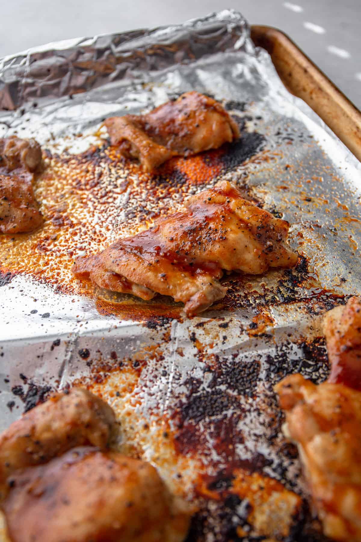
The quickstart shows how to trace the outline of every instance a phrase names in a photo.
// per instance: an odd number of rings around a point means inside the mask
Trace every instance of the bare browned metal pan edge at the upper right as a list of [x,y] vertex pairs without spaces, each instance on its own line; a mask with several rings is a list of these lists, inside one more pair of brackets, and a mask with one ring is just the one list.
[[281,30],[252,25],[288,91],[303,99],[361,162],[361,112]]

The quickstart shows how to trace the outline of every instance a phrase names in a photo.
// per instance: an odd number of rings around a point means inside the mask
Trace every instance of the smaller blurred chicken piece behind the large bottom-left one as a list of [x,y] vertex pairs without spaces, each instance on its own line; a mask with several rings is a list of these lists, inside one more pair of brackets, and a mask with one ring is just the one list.
[[0,499],[16,469],[45,463],[75,446],[106,448],[113,410],[87,390],[58,393],[12,423],[0,437]]

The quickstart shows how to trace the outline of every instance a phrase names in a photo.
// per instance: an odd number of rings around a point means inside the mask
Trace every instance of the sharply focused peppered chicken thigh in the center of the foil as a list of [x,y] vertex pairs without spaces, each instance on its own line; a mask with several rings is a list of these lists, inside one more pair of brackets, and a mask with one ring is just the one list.
[[225,296],[222,269],[261,274],[297,263],[285,244],[288,222],[243,199],[231,183],[192,196],[186,207],[100,254],[77,258],[74,274],[142,299],[170,295],[191,316]]

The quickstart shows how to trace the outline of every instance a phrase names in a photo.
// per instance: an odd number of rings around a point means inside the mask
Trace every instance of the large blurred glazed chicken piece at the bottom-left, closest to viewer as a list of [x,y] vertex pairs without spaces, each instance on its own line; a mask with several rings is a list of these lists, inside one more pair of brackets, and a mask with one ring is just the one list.
[[3,504],[12,542],[181,542],[178,511],[154,467],[75,448],[12,476]]

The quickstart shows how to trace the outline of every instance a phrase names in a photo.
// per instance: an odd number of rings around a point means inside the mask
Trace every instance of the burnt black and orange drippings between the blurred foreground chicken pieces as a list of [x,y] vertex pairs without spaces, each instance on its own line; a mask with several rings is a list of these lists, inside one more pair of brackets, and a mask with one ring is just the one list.
[[[232,326],[225,319],[217,324],[220,333]],[[150,459],[160,472],[164,469],[173,491],[193,501],[189,540],[208,540],[211,533],[222,542],[319,540],[319,532],[310,528],[297,449],[282,433],[284,416],[273,385],[291,372],[324,380],[324,339],[290,339],[263,356],[208,354],[201,356],[196,374],[190,369],[182,376],[182,362],[172,369],[167,355],[172,321],[157,318],[145,326],[150,332],[160,329],[164,343],[141,347],[124,359],[119,352],[109,359],[99,352],[86,384],[115,408],[123,432],[121,449]],[[197,334],[193,344],[202,349]],[[184,359],[180,349],[177,354]],[[169,378],[176,388],[165,404]],[[270,517],[274,521],[268,522]]]

